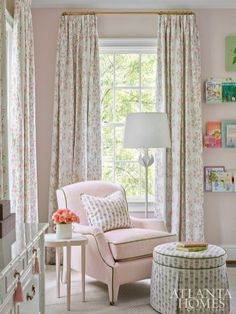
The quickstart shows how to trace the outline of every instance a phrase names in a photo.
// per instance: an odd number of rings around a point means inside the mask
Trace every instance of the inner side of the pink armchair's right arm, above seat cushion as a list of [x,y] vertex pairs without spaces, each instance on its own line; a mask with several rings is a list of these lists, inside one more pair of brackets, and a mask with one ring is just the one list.
[[136,218],[130,217],[134,228],[154,229],[158,231],[168,232],[163,220],[157,218]]

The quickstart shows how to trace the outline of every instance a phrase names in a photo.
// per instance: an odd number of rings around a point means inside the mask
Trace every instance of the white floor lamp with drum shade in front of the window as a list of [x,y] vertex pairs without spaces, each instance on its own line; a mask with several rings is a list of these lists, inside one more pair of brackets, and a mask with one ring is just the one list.
[[139,163],[145,167],[145,217],[148,217],[148,167],[154,162],[149,148],[171,147],[166,113],[139,112],[126,117],[124,148],[140,149]]

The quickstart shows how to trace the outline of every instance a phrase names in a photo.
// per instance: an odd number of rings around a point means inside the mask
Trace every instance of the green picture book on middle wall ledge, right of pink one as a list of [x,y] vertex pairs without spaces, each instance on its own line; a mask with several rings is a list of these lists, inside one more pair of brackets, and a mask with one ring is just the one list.
[[236,148],[236,120],[223,120],[222,127],[222,147]]

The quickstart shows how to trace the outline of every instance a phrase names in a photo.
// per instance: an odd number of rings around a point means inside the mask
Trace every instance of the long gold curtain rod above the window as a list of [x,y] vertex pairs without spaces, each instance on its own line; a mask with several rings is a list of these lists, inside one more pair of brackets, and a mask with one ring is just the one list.
[[94,11],[71,11],[71,12],[63,12],[62,16],[67,16],[67,15],[87,15],[87,14],[94,14],[94,15],[106,15],[106,14],[157,14],[157,15],[195,15],[194,12],[192,11],[147,11],[147,12],[142,12],[142,11],[130,11],[130,12],[94,12]]

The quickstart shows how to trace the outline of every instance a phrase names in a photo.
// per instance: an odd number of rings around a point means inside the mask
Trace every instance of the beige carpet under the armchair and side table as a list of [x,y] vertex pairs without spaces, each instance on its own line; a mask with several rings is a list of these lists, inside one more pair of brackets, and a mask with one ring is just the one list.
[[[236,314],[236,268],[228,268],[230,281],[231,313]],[[47,314],[150,314],[157,313],[149,305],[150,280],[143,280],[120,287],[119,299],[110,306],[107,287],[89,277],[86,278],[86,302],[81,302],[79,274],[72,272],[71,311],[66,310],[66,285],[61,286],[61,298],[56,297],[55,267],[46,270]]]

